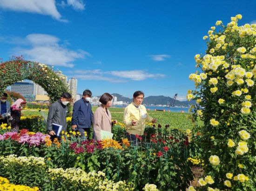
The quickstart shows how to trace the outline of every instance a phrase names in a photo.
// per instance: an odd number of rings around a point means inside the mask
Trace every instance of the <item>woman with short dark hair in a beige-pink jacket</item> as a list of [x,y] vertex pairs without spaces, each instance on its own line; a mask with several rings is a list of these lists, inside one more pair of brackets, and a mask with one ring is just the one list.
[[111,121],[111,114],[108,108],[112,105],[113,96],[105,93],[101,96],[100,102],[102,103],[99,108],[94,112],[93,128],[95,140],[101,140],[101,130],[111,133],[112,125],[117,121]]

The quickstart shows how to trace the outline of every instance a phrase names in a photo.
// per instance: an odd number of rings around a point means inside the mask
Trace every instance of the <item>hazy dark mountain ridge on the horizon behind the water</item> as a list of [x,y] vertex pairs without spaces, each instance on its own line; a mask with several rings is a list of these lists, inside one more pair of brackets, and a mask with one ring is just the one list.
[[[132,102],[133,99],[130,99],[128,97],[121,96],[120,94],[114,93],[111,94],[113,96],[117,97],[117,101],[123,101],[123,102]],[[145,97],[143,100],[143,104],[154,104],[154,105],[167,105],[167,102],[171,103],[173,98],[166,97],[166,96],[148,96]],[[183,107],[189,107],[189,105],[195,104],[195,100],[193,101],[179,101],[175,100],[175,106],[183,106]]]

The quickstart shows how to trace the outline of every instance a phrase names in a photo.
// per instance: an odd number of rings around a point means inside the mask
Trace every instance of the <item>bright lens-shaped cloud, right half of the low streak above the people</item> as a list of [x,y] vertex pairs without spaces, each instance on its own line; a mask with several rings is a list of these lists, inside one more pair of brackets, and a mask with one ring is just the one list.
[[164,77],[164,74],[149,74],[143,70],[126,70],[126,71],[110,71],[109,74],[113,76],[129,78],[131,80],[145,80],[147,78],[157,78],[157,77]]

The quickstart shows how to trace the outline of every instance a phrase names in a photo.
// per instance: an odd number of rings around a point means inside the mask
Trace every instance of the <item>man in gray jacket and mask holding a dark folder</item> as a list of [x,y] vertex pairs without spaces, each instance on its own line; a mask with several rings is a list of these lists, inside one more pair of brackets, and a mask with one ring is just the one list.
[[49,135],[56,137],[57,132],[53,130],[53,123],[62,125],[61,131],[67,131],[67,104],[71,98],[72,96],[68,92],[65,92],[61,95],[60,100],[50,106],[47,118],[47,132]]

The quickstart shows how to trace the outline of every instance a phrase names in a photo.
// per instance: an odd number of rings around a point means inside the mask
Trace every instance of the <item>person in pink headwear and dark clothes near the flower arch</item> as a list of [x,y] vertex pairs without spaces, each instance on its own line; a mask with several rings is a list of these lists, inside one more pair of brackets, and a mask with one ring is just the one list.
[[11,120],[11,131],[18,132],[19,126],[20,126],[20,116],[21,116],[21,110],[25,106],[27,102],[22,99],[17,99],[16,102],[14,102],[11,105],[11,116],[13,117],[13,120]]

